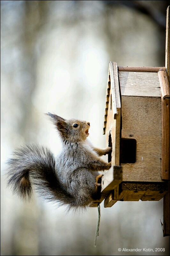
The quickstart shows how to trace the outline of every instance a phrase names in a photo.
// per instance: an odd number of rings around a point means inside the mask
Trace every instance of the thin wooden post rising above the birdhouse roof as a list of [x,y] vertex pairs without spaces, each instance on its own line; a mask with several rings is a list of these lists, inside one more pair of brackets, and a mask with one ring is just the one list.
[[166,11],[166,45],[165,45],[165,67],[166,67],[166,72],[167,72],[167,76],[168,76],[168,81],[169,81],[169,62],[170,62],[170,59],[169,59],[169,53],[170,53],[170,33],[169,33],[169,30],[170,30],[170,23],[169,23],[169,6],[167,8],[167,11]]

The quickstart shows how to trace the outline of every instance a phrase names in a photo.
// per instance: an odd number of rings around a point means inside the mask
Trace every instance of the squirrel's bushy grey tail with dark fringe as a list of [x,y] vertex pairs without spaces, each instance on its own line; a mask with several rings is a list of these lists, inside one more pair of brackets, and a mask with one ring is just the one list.
[[14,152],[14,158],[8,160],[8,185],[13,193],[29,200],[32,196],[32,184],[38,193],[49,201],[58,201],[60,205],[73,203],[73,198],[60,184],[55,172],[55,158],[46,147],[26,145]]

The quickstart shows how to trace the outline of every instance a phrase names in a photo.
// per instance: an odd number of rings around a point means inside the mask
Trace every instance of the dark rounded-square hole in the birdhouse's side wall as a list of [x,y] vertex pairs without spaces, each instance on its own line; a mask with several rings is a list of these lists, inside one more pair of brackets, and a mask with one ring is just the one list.
[[130,163],[136,162],[136,145],[137,141],[135,139],[121,139],[120,143],[120,163]]

